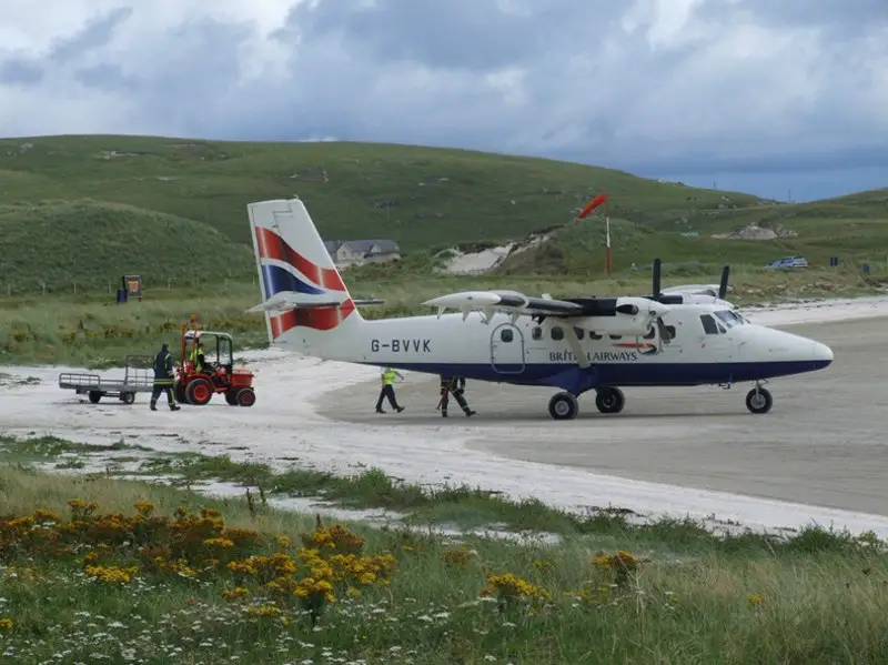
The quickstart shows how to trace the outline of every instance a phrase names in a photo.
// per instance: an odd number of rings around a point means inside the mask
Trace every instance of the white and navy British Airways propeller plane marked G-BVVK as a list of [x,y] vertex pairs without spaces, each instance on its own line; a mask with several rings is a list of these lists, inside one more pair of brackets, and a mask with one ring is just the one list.
[[[828,346],[734,312],[723,300],[726,274],[715,294],[699,293],[706,285],[663,294],[658,264],[652,296],[556,300],[466,291],[424,303],[437,314],[365,320],[302,201],[250,203],[248,211],[263,299],[248,311],[264,312],[272,344],[303,355],[552,386],[562,391],[548,403],[556,420],[575,417],[577,397],[592,390],[598,411],[618,413],[622,386],[738,382],[755,382],[746,406],[767,413],[766,380],[833,362]],[[692,302],[697,298],[710,302]],[[448,308],[460,313],[444,314]]]

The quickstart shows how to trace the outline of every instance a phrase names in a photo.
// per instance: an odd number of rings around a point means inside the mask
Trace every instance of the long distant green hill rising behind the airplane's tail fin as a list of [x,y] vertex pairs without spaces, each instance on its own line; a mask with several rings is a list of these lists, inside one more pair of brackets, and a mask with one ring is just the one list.
[[747,206],[749,194],[610,169],[375,143],[244,143],[145,137],[0,141],[6,203],[91,198],[204,222],[249,243],[249,201],[299,195],[325,239],[392,238],[405,251],[519,238],[569,220],[588,198],[635,221]]

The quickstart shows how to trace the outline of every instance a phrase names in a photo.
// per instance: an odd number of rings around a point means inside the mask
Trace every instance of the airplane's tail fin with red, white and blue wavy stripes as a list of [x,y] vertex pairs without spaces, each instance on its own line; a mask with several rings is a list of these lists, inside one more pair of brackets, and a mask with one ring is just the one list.
[[[248,204],[262,303],[271,343],[325,333],[335,337],[362,321],[333,259],[299,199]],[[327,339],[326,342],[332,340]]]

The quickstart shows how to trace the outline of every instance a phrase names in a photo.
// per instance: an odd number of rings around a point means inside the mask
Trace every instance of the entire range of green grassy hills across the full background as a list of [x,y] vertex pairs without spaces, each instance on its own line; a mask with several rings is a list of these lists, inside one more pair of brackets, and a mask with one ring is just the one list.
[[[784,254],[878,261],[888,250],[888,190],[804,204],[657,182],[535,158],[374,143],[249,143],[151,137],[0,140],[0,293],[104,286],[123,272],[148,284],[252,279],[245,205],[297,195],[327,240],[390,238],[407,260],[375,276],[427,272],[430,252],[495,245],[566,224],[500,274],[597,274],[610,194],[615,266],[761,265]],[[797,235],[713,239],[759,224]],[[688,238],[690,232],[698,238]],[[683,233],[685,235],[683,235]],[[194,254],[189,239],[196,238]],[[684,268],[683,268],[684,270]],[[706,270],[709,270],[708,268]]]

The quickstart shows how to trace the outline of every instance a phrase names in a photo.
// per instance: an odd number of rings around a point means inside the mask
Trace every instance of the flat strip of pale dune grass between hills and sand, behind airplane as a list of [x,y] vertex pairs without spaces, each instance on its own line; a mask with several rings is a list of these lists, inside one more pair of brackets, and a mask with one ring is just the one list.
[[[577,249],[576,251],[582,251]],[[664,264],[664,286],[717,283],[720,265]],[[875,276],[875,275],[874,275]],[[555,298],[650,293],[650,268],[623,270],[608,276],[493,274],[481,276],[428,275],[421,269],[366,266],[345,273],[355,298],[379,298],[382,305],[362,306],[366,319],[432,313],[422,302],[444,293],[474,289],[515,289]],[[768,271],[736,269],[731,301],[738,304],[777,302],[798,298],[852,296],[871,292],[849,269]],[[104,291],[47,296],[0,296],[0,365],[64,364],[93,369],[121,366],[128,354],[153,354],[168,342],[173,352],[179,331],[192,314],[205,329],[234,335],[235,355],[268,345],[264,319],[245,310],[261,300],[252,282],[230,281],[224,286],[145,289],[141,302],[113,302]]]

